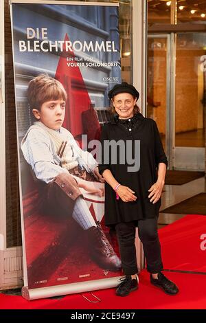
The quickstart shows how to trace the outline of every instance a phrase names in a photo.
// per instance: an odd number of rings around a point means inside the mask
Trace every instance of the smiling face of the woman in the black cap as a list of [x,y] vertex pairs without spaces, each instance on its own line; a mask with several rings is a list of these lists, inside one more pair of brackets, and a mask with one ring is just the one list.
[[113,107],[119,115],[119,119],[128,119],[133,117],[133,110],[137,98],[133,98],[130,93],[118,93],[113,97]]

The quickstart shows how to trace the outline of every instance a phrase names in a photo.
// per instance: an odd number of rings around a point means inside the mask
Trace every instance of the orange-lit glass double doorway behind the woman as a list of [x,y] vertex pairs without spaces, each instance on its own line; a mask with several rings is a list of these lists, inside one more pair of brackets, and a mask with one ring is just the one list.
[[205,169],[205,33],[148,36],[147,116],[157,122],[169,169]]

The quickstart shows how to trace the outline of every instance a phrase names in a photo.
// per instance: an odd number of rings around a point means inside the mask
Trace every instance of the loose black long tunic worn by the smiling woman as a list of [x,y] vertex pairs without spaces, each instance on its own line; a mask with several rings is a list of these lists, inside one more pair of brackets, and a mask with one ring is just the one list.
[[[130,142],[133,147],[133,159],[136,156],[137,164],[137,142],[140,142],[140,167],[137,171],[130,171],[126,152],[125,162],[119,159],[119,153],[122,158],[122,148],[117,149],[117,162],[111,161],[111,152],[113,148],[107,148],[108,142],[122,140],[121,145]],[[102,164],[99,164],[100,174],[104,170],[111,170],[115,179],[124,186],[128,186],[135,191],[137,200],[133,202],[124,202],[122,199],[116,199],[116,193],[108,183],[105,182],[105,224],[107,226],[115,225],[119,222],[138,221],[140,219],[154,218],[159,215],[161,199],[153,204],[148,199],[150,192],[148,190],[157,181],[157,166],[159,163],[168,165],[167,157],[163,151],[161,138],[154,120],[144,118],[141,113],[137,113],[128,120],[119,120],[115,117],[110,124],[102,127],[101,134],[102,144]],[[123,147],[123,146],[121,146]],[[129,151],[129,150],[128,150]],[[136,153],[135,153],[136,151]],[[106,158],[105,158],[106,155]],[[108,161],[106,161],[108,159]],[[132,168],[130,168],[132,169]],[[134,168],[133,168],[134,170]]]

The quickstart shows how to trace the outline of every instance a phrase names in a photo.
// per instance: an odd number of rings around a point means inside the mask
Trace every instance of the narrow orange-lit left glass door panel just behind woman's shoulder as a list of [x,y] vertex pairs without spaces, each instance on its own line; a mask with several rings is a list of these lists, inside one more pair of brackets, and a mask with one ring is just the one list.
[[169,34],[148,35],[146,116],[157,122],[169,166],[172,166],[170,56]]

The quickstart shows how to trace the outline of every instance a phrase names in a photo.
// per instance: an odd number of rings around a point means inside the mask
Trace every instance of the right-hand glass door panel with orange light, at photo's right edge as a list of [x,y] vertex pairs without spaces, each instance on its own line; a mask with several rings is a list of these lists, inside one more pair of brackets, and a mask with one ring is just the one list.
[[174,168],[205,169],[206,35],[176,35]]

